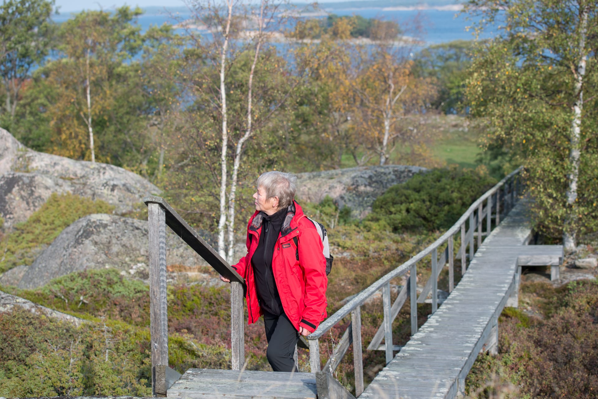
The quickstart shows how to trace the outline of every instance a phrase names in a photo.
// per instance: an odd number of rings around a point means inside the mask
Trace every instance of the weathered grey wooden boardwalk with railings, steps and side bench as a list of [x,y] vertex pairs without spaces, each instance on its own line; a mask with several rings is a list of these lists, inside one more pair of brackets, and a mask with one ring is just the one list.
[[[300,345],[309,348],[310,373],[242,370],[243,285],[245,281],[160,197],[145,197],[149,207],[149,266],[152,333],[152,391],[154,396],[181,398],[354,398],[334,379],[353,346],[355,396],[359,398],[454,398],[463,392],[465,377],[477,355],[496,353],[498,316],[504,306],[517,306],[522,266],[551,266],[558,278],[561,245],[527,245],[530,227],[520,197],[520,169],[476,200],[462,217],[432,245],[365,288],[321,323]],[[231,280],[231,368],[190,369],[182,376],[168,367],[166,307],[166,225],[195,249],[222,276]],[[455,243],[458,248],[455,248]],[[440,257],[439,257],[440,255]],[[454,263],[463,273],[454,286]],[[419,269],[418,269],[419,267]],[[448,268],[449,297],[438,307],[438,279]],[[417,296],[418,271],[430,274]],[[390,281],[408,276],[396,298]],[[384,319],[366,350],[384,351],[386,367],[364,386],[361,306],[382,290]],[[432,315],[418,327],[417,303],[432,301]],[[408,299],[408,301],[407,301]],[[405,303],[411,313],[411,339],[393,345],[392,322]],[[344,319],[350,324],[322,367],[319,340]],[[397,353],[398,352],[398,353]],[[296,353],[296,352],[295,352]],[[396,354],[396,355],[395,355]],[[365,388],[365,389],[364,389]]]

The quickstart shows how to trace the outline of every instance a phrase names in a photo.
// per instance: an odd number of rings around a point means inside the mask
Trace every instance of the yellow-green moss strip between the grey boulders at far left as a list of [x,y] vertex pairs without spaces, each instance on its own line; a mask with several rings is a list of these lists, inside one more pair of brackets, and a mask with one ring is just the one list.
[[86,215],[112,213],[114,206],[71,193],[52,194],[42,207],[25,222],[14,226],[0,240],[0,273],[35,260],[35,250],[50,244],[71,223]]

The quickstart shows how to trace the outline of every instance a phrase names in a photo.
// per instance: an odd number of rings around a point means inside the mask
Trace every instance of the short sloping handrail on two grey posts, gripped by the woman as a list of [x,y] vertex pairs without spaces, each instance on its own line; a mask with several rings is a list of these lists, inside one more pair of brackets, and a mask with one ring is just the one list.
[[[245,363],[243,288],[245,279],[161,197],[147,196],[149,222],[149,312],[151,331],[152,395],[166,396],[179,374],[168,367],[168,323],[166,304],[166,226],[170,227],[206,262],[230,280],[231,366]],[[169,377],[174,374],[175,377]],[[173,380],[174,379],[174,380]]]

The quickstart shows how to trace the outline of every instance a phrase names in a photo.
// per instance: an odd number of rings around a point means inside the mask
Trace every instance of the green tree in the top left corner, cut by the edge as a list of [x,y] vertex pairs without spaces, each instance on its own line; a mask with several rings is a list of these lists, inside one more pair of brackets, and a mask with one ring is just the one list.
[[10,128],[31,69],[42,63],[50,51],[53,5],[53,0],[6,0],[0,5],[0,76],[6,127]]

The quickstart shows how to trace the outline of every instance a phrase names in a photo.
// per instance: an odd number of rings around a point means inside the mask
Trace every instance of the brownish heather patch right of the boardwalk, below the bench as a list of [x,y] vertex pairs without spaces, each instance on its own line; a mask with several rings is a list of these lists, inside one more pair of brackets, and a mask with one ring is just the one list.
[[499,355],[478,357],[466,380],[469,397],[595,398],[598,280],[527,283],[522,297],[535,312],[505,308]]

